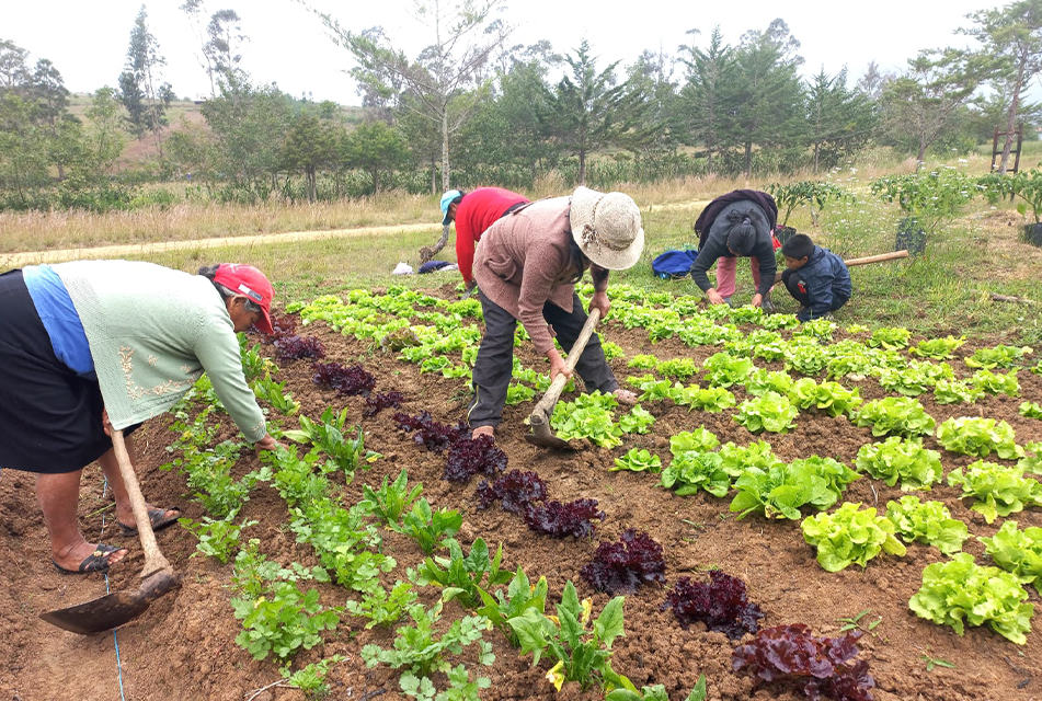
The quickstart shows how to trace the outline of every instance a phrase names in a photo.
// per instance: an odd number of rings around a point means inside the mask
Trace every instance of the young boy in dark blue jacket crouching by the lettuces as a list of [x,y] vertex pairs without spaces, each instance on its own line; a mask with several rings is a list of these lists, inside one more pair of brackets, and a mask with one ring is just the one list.
[[797,319],[810,321],[836,311],[850,299],[850,272],[838,255],[814,245],[811,237],[798,233],[785,242],[781,254],[786,269],[781,281],[800,302]]

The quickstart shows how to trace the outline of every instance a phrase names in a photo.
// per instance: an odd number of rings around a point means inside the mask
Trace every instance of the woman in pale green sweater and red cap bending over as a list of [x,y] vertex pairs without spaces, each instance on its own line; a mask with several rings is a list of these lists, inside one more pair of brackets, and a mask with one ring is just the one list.
[[[99,462],[121,530],[136,535],[111,429],[129,434],[165,412],[204,371],[254,448],[277,446],[236,338],[251,325],[272,332],[273,291],[260,271],[237,264],[191,275],[151,263],[78,261],[0,275],[0,468],[37,473],[59,572],[103,572],[127,554],[80,532],[80,474]],[[133,438],[126,443],[135,461]],[[154,528],[179,515],[149,507]]]

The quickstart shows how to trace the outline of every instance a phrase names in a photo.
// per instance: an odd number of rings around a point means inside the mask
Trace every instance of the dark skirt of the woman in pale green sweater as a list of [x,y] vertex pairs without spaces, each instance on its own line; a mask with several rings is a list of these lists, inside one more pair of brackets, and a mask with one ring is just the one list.
[[98,381],[55,356],[22,272],[0,275],[0,468],[84,468],[112,448],[103,409]]

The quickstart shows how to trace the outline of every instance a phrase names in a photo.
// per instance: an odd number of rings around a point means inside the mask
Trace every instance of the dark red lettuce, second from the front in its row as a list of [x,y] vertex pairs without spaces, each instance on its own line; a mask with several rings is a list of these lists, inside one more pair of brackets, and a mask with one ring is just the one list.
[[731,640],[755,633],[764,613],[746,597],[745,583],[722,570],[712,570],[709,578],[708,584],[690,577],[677,579],[662,610],[672,608],[683,628],[703,621],[709,630],[726,633]]

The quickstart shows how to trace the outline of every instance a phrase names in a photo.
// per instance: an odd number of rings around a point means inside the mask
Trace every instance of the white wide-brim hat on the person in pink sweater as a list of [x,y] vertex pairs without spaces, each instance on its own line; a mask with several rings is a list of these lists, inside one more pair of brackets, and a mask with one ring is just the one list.
[[640,208],[629,195],[576,187],[569,219],[575,243],[600,267],[625,271],[640,260],[644,229]]

